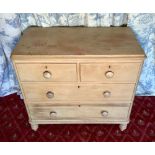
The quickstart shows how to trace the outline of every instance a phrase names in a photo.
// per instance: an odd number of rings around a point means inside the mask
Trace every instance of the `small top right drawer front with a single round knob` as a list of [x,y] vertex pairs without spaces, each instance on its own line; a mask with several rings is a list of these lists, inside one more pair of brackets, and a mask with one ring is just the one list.
[[135,82],[140,63],[81,64],[83,82]]

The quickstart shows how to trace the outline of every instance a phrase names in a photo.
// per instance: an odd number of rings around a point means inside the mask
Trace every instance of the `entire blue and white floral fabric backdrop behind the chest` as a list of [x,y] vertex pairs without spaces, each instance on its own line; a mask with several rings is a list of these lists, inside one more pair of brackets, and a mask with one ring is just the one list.
[[122,13],[0,14],[0,96],[20,93],[10,56],[19,41],[21,32],[27,27],[97,27],[122,24],[131,27],[147,56],[136,94],[155,96],[155,14]]

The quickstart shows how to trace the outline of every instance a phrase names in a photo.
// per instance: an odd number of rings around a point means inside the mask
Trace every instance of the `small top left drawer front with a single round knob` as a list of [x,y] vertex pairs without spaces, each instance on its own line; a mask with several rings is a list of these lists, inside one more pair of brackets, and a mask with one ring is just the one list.
[[16,64],[21,81],[76,81],[76,64]]

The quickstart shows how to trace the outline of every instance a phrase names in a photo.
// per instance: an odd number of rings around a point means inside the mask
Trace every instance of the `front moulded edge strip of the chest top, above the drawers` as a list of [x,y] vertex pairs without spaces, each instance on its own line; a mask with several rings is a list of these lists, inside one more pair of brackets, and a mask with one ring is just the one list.
[[21,63],[21,64],[35,64],[35,63],[103,63],[103,62],[139,62],[141,63],[143,58],[142,57],[137,57],[137,56],[132,56],[132,57],[124,57],[124,56],[107,56],[107,55],[102,55],[102,56],[53,56],[53,55],[15,55],[13,54],[11,56],[12,60],[15,63]]

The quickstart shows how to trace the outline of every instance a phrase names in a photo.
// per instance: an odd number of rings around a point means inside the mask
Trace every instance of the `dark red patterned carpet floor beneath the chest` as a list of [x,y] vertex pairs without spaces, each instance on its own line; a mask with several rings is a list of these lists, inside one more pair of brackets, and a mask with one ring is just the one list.
[[127,130],[118,125],[40,125],[34,132],[23,100],[16,94],[0,98],[0,141],[4,142],[155,142],[155,97],[136,96]]

